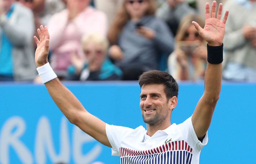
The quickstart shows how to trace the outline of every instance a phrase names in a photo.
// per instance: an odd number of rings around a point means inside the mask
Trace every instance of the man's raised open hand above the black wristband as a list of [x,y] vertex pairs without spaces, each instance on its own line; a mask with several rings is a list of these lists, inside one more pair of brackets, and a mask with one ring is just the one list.
[[209,46],[220,46],[222,44],[222,40],[225,34],[225,24],[227,21],[227,16],[229,15],[229,11],[225,12],[223,20],[221,21],[221,13],[222,13],[222,3],[219,4],[219,10],[217,12],[217,17],[215,18],[216,11],[216,1],[212,2],[211,7],[211,15],[210,15],[210,5],[206,3],[205,6],[205,26],[201,28],[198,23],[192,22],[199,32],[199,35],[204,38]]

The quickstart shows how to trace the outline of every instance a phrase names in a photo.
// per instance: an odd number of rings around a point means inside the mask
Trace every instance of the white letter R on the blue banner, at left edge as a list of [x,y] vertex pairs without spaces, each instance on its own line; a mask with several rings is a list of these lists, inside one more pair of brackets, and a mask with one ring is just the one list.
[[[16,128],[16,129],[15,129]],[[15,129],[14,132],[12,132]],[[12,147],[17,153],[20,161],[24,164],[32,164],[33,158],[19,137],[25,132],[26,125],[23,118],[14,116],[4,124],[0,133],[0,163],[9,164],[9,148]]]

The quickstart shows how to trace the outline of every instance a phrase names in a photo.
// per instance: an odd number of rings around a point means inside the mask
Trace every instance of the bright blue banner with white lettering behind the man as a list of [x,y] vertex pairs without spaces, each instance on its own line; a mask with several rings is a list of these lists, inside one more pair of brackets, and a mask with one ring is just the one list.
[[[138,82],[64,83],[88,112],[113,125],[143,125]],[[171,122],[190,117],[203,83],[180,83]],[[254,163],[255,83],[223,83],[200,163]],[[246,141],[246,142],[245,142]],[[247,141],[250,141],[247,143]],[[118,164],[111,149],[71,124],[44,85],[0,84],[1,164]]]

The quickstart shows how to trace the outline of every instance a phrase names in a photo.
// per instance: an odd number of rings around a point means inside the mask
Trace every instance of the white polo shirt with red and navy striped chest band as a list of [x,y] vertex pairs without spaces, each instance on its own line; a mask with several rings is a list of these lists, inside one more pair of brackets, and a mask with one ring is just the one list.
[[152,137],[143,126],[131,129],[106,124],[112,156],[121,164],[199,164],[201,149],[208,142],[208,132],[199,141],[191,117],[181,124],[158,130]]

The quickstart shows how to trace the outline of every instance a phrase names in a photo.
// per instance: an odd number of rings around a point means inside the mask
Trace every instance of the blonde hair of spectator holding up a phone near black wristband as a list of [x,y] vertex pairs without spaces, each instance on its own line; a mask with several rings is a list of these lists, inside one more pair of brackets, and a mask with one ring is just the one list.
[[182,41],[184,39],[185,32],[187,31],[188,27],[192,24],[192,21],[197,22],[200,27],[204,28],[205,22],[200,15],[188,14],[181,20],[178,26],[177,34],[175,36],[176,42]]

